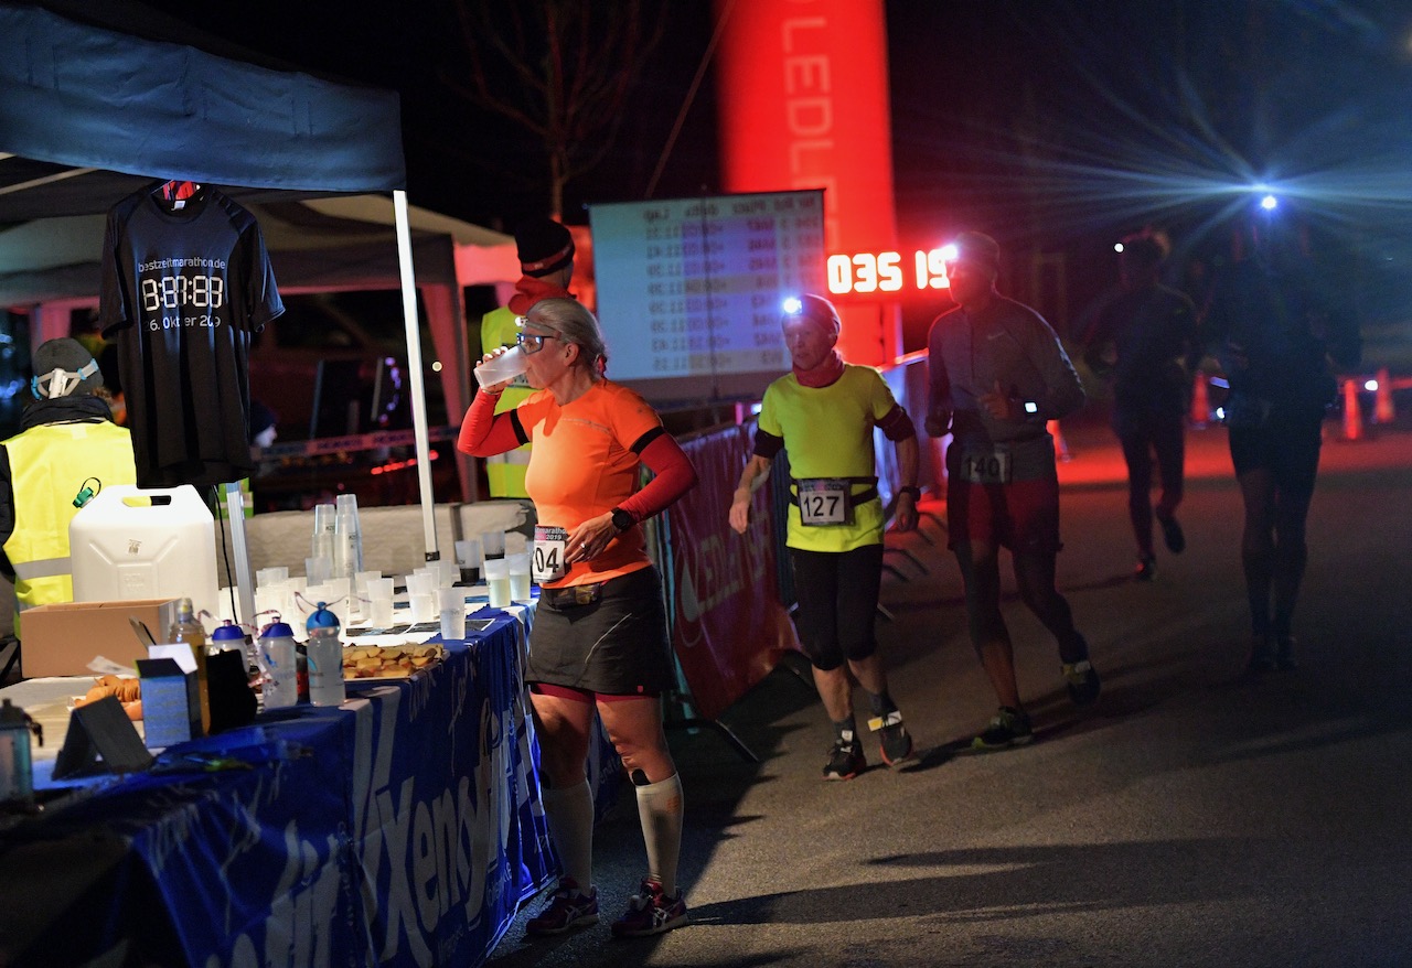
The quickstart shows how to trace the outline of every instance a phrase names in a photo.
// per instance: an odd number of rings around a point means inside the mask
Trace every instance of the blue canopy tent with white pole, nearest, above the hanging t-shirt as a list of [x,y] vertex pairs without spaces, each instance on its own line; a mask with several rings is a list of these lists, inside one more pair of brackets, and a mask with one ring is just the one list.
[[[243,205],[391,192],[424,533],[435,556],[397,95],[93,25],[103,7],[0,0],[0,223],[106,213],[152,179],[217,185]],[[148,13],[128,4],[120,23],[162,23]],[[244,580],[246,615],[249,595]]]

